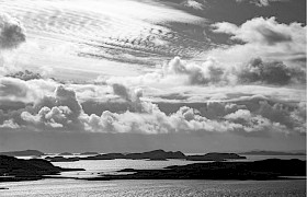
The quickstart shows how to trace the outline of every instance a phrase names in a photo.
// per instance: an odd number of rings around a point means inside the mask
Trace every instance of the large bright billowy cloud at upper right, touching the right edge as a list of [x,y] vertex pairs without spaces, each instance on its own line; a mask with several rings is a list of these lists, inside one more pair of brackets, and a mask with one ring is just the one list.
[[254,18],[240,26],[228,22],[212,26],[215,33],[229,34],[230,39],[243,42],[208,53],[219,61],[247,62],[251,58],[261,57],[269,61],[284,61],[291,67],[305,66],[306,26],[300,23],[283,24],[272,16]]

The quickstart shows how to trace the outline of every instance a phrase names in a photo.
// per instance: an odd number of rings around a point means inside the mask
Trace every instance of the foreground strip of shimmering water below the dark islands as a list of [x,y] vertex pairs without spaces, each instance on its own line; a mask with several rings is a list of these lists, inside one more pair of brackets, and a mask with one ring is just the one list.
[[1,196],[306,196],[306,181],[75,181],[1,183]]

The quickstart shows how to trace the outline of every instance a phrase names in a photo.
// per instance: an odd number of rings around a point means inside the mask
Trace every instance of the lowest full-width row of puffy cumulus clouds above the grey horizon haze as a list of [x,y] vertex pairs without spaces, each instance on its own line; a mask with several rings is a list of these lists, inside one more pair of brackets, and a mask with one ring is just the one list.
[[[27,81],[30,82],[30,81]],[[303,132],[306,123],[297,106],[288,108],[286,120],[274,118],[263,104],[211,102],[205,108],[182,106],[174,113],[162,112],[157,104],[141,101],[141,90],[113,84],[113,93],[129,103],[123,112],[101,111],[87,114],[73,89],[58,85],[49,96],[34,105],[12,112],[0,111],[5,128],[35,128],[77,132],[234,132],[243,136],[270,136],[270,132]],[[268,104],[269,105],[269,104]],[[275,106],[269,105],[274,108]],[[266,107],[266,108],[268,108]],[[270,109],[272,111],[272,109]],[[282,115],[284,115],[282,113]],[[304,125],[305,124],[305,125]]]

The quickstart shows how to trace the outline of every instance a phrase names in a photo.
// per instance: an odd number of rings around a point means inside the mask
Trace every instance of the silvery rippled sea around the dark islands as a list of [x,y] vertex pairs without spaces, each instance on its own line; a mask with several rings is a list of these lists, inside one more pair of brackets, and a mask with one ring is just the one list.
[[[246,155],[247,162],[268,158],[300,159],[305,155]],[[306,177],[282,181],[209,181],[209,179],[121,179],[84,181],[70,177],[92,177],[114,174],[121,169],[162,169],[169,165],[195,163],[184,160],[92,160],[77,162],[54,162],[61,167],[82,167],[86,171],[66,172],[61,178],[46,178],[31,182],[0,183],[0,196],[31,197],[83,197],[83,196],[306,196]]]

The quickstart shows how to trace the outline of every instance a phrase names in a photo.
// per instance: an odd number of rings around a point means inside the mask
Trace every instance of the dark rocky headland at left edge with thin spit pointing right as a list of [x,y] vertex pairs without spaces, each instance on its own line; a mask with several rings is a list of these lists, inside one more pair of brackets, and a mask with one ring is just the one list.
[[67,171],[84,170],[58,167],[42,159],[23,160],[0,155],[0,182],[35,181]]

